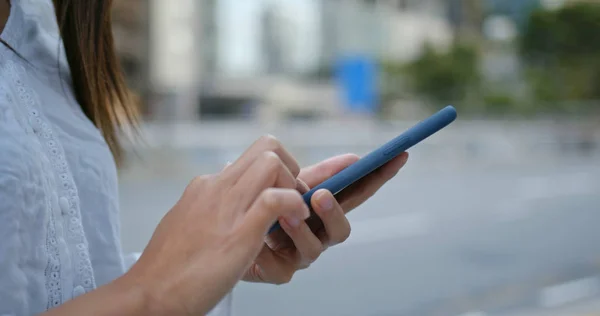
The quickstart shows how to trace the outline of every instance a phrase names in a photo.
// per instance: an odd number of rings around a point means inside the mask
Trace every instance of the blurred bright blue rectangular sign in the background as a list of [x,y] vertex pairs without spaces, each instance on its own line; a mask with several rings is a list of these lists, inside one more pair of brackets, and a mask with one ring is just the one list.
[[353,113],[374,113],[378,107],[377,64],[366,56],[342,57],[336,80],[345,107]]

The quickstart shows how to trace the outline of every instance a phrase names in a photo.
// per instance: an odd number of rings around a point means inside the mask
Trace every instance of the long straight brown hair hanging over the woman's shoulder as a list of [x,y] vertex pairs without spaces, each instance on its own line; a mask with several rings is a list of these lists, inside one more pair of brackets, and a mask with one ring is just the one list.
[[[127,0],[126,0],[127,1]],[[113,0],[53,0],[75,97],[121,161],[120,132],[135,127],[137,109],[115,51]]]

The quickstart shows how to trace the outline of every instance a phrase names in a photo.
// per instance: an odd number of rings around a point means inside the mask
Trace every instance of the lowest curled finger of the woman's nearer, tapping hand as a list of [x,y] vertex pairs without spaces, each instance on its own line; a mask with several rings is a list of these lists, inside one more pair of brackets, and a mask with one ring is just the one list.
[[310,211],[295,189],[269,188],[254,201],[244,222],[247,233],[264,239],[269,228],[281,217],[305,220]]

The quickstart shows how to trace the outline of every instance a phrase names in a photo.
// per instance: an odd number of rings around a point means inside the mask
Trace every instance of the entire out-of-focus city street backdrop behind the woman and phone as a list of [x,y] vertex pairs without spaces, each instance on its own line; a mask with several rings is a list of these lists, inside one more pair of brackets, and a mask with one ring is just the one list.
[[452,104],[346,244],[291,284],[240,284],[234,315],[600,315],[600,1],[117,0],[113,17],[143,113],[125,251],[265,133],[308,165]]

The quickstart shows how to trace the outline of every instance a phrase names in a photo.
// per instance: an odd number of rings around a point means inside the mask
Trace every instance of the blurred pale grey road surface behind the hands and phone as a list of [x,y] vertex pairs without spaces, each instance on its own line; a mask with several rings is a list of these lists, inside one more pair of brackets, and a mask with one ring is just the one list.
[[[519,315],[600,298],[598,156],[468,164],[435,152],[411,150],[349,215],[348,241],[290,284],[239,284],[235,315]],[[197,171],[161,172],[122,176],[125,251],[143,249]]]

